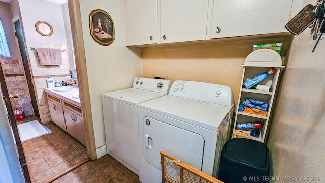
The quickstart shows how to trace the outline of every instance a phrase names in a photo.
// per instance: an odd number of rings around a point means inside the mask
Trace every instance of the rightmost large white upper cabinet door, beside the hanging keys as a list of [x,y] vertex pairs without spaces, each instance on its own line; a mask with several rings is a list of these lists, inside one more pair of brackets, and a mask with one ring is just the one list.
[[292,4],[292,0],[215,0],[211,38],[287,32],[284,26]]

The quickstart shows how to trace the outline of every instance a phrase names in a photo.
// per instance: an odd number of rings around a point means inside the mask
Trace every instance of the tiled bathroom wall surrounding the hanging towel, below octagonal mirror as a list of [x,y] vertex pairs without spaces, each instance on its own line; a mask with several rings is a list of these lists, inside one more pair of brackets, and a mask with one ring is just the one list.
[[[40,59],[37,54],[37,48],[55,48],[61,49],[62,65],[44,66],[40,64]],[[70,79],[70,64],[67,45],[48,44],[26,42],[26,52],[29,58],[29,67],[33,79],[36,99],[40,111],[40,118],[43,124],[51,121],[50,111],[47,104],[46,93],[44,88],[47,88],[46,79],[51,76],[55,80],[68,81]]]

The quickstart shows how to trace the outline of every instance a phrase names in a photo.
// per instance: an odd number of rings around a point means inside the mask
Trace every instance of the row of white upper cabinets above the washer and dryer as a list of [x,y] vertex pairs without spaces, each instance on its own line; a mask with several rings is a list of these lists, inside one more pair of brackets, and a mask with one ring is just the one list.
[[126,46],[283,33],[303,0],[124,0]]

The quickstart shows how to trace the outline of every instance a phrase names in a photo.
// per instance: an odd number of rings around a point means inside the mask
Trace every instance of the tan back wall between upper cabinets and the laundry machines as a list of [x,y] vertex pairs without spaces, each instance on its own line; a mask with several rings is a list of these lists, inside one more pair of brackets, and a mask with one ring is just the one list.
[[142,77],[160,76],[173,81],[189,80],[228,85],[233,91],[237,108],[243,71],[241,65],[251,53],[254,43],[267,42],[283,42],[282,52],[285,53],[290,38],[143,48]]

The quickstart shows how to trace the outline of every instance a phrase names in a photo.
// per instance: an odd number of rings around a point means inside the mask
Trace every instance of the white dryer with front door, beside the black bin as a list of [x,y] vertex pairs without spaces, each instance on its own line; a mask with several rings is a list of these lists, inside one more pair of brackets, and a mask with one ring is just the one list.
[[174,81],[168,95],[140,103],[140,181],[161,182],[160,151],[216,177],[233,111],[230,87],[196,81]]

